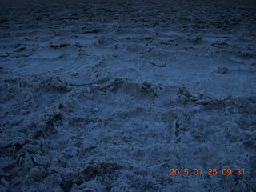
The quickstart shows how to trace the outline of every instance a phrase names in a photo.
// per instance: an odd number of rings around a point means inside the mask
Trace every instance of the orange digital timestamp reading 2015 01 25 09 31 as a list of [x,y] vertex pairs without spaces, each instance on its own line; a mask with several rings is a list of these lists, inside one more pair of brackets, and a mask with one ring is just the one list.
[[170,175],[238,175],[242,176],[243,174],[246,174],[245,169],[230,169],[230,168],[223,168],[223,169],[214,169],[209,168],[206,170],[203,169],[170,169]]

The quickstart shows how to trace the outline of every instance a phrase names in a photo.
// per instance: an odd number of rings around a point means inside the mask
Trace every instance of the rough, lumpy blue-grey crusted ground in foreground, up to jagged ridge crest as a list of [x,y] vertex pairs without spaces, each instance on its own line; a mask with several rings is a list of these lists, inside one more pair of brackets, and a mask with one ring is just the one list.
[[[56,191],[168,191],[195,181],[216,190],[254,187],[255,97],[218,100],[126,78],[102,86],[36,76],[2,82],[1,174],[14,190],[32,183]],[[250,174],[238,182],[170,178],[171,167],[192,166]]]

